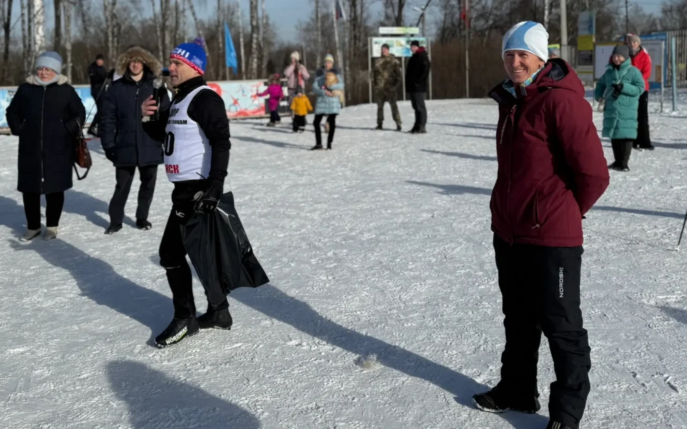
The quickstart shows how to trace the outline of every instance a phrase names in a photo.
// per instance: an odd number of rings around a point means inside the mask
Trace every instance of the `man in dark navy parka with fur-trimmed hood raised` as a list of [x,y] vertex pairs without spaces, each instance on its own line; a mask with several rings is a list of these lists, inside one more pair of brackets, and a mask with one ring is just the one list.
[[[123,77],[113,82],[102,102],[100,141],[105,156],[115,165],[117,181],[110,200],[110,226],[106,234],[122,229],[124,206],[136,167],[141,178],[136,226],[144,230],[153,227],[148,222],[148,211],[153,202],[157,166],[163,161],[162,140],[153,139],[144,132],[141,103],[153,95],[153,80],[161,71],[161,63],[150,52],[141,47],[127,49],[117,60],[117,73]],[[169,96],[164,87],[161,92],[161,104],[167,108]]]

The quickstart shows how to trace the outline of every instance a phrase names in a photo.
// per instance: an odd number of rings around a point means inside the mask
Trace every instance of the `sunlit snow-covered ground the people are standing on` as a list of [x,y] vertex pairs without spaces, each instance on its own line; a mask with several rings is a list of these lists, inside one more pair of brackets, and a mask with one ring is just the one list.
[[[488,207],[496,106],[428,106],[423,136],[374,131],[375,106],[346,108],[331,152],[307,150],[311,130],[232,122],[226,189],[271,284],[232,293],[232,331],[162,350],[164,169],[153,230],[129,218],[105,236],[114,170],[93,146],[58,240],[21,245],[17,143],[0,137],[0,428],[543,429],[545,341],[540,415],[470,401],[499,379],[504,346]],[[407,129],[409,104],[401,113]],[[585,220],[585,429],[687,428],[687,256],[668,250],[687,209],[686,117],[652,113],[657,149],[613,172]]]

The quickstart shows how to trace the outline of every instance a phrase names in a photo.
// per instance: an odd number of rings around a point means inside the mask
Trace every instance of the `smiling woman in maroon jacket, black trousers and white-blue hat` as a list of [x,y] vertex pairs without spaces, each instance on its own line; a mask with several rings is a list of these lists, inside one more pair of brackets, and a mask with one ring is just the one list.
[[549,429],[576,429],[589,394],[589,342],[580,310],[582,219],[609,184],[592,107],[572,67],[548,60],[541,24],[504,37],[509,79],[499,104],[498,175],[491,197],[499,288],[506,316],[501,382],[473,400],[482,410],[536,413],[541,333],[556,381]]

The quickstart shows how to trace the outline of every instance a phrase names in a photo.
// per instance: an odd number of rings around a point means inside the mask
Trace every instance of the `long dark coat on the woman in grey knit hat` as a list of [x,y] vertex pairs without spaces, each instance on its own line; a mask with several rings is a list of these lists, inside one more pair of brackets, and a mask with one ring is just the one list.
[[13,135],[19,136],[19,192],[52,194],[71,188],[76,136],[86,108],[67,78],[41,86],[34,76],[16,90],[7,108]]

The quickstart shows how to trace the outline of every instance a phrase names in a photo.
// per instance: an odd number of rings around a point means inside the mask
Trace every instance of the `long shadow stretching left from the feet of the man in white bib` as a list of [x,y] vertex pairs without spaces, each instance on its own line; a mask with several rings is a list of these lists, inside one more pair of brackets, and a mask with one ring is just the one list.
[[[15,231],[21,231],[21,207],[14,200],[0,196],[0,213],[10,213],[12,208],[17,215],[3,215],[0,222]],[[117,274],[110,264],[59,238],[50,242],[43,242],[40,237],[35,240],[38,241],[27,244],[12,241],[10,244],[14,251],[34,251],[48,264],[69,271],[85,297],[150,327],[153,334],[164,329],[169,322],[172,300],[168,297],[138,286]],[[148,343],[152,345],[150,340]]]

